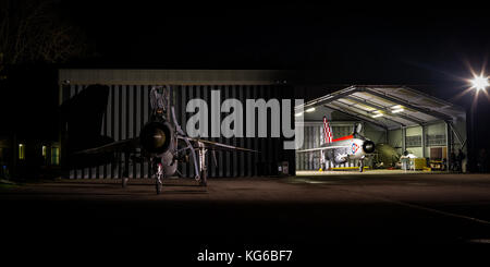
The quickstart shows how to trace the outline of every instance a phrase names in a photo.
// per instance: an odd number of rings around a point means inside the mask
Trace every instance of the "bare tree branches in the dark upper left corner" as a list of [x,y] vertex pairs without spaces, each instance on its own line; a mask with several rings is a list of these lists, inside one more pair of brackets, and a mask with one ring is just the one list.
[[56,0],[0,0],[0,72],[5,65],[83,57],[81,32],[62,22]]

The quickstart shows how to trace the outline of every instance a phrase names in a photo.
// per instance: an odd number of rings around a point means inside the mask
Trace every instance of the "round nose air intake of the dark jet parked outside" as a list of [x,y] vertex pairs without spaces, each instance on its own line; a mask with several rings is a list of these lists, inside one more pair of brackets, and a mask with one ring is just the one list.
[[169,150],[173,131],[168,122],[149,122],[139,133],[143,149],[151,154],[162,154]]

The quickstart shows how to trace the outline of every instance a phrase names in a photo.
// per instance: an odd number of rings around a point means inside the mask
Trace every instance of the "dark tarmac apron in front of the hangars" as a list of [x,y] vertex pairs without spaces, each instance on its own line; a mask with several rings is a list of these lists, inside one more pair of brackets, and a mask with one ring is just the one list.
[[347,172],[207,187],[180,179],[161,195],[147,179],[126,189],[118,179],[59,180],[3,184],[0,203],[2,245],[27,251],[161,247],[163,258],[196,262],[204,250],[292,250],[296,260],[323,260],[378,246],[407,256],[490,245],[490,174]]

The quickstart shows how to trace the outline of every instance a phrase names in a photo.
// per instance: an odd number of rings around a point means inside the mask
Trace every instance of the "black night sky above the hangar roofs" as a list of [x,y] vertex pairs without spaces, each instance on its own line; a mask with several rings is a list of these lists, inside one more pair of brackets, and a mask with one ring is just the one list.
[[[490,12],[469,2],[60,0],[57,8],[81,28],[91,51],[64,68],[320,70],[324,84],[403,84],[465,108],[473,92],[455,96],[469,86],[470,68],[486,66],[490,49]],[[488,146],[489,102],[480,95],[478,132]]]

